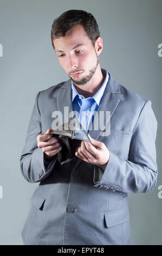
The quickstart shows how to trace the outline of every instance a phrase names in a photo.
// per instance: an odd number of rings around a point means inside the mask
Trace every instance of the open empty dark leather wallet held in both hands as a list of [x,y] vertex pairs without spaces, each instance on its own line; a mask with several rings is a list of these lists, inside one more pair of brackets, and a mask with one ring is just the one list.
[[63,142],[63,148],[57,153],[60,164],[66,163],[76,156],[76,149],[81,141],[91,142],[77,118],[62,124],[51,134],[57,135]]

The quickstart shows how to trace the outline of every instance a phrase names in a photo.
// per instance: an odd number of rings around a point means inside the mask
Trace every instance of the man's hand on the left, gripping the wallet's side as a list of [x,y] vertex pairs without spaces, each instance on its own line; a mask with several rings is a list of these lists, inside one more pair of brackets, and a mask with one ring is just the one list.
[[63,142],[61,142],[57,136],[53,136],[50,132],[52,132],[52,130],[48,129],[46,133],[39,134],[36,137],[38,148],[41,148],[45,153],[44,156],[46,161],[52,160],[53,156],[63,148]]

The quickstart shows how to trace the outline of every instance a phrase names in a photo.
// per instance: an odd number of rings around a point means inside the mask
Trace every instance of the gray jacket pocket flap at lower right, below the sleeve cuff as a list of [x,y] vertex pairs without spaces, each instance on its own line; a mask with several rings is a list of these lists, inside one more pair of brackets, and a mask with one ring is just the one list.
[[104,218],[107,228],[114,227],[129,221],[129,209],[123,208],[117,211],[104,212]]

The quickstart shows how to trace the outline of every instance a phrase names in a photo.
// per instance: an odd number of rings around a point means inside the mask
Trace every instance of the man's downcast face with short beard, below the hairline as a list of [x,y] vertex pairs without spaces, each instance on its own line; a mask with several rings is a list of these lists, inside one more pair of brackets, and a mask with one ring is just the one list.
[[53,40],[60,65],[74,84],[83,85],[94,76],[99,57],[91,40],[81,25],[74,27],[70,35]]

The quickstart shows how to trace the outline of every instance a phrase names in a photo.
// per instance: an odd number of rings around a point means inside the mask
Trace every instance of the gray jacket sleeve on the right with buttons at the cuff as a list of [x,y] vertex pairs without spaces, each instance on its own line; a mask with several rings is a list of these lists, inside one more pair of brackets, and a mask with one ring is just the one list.
[[94,166],[95,187],[126,193],[151,191],[157,182],[157,119],[147,100],[132,131],[128,160],[110,152],[107,167]]

